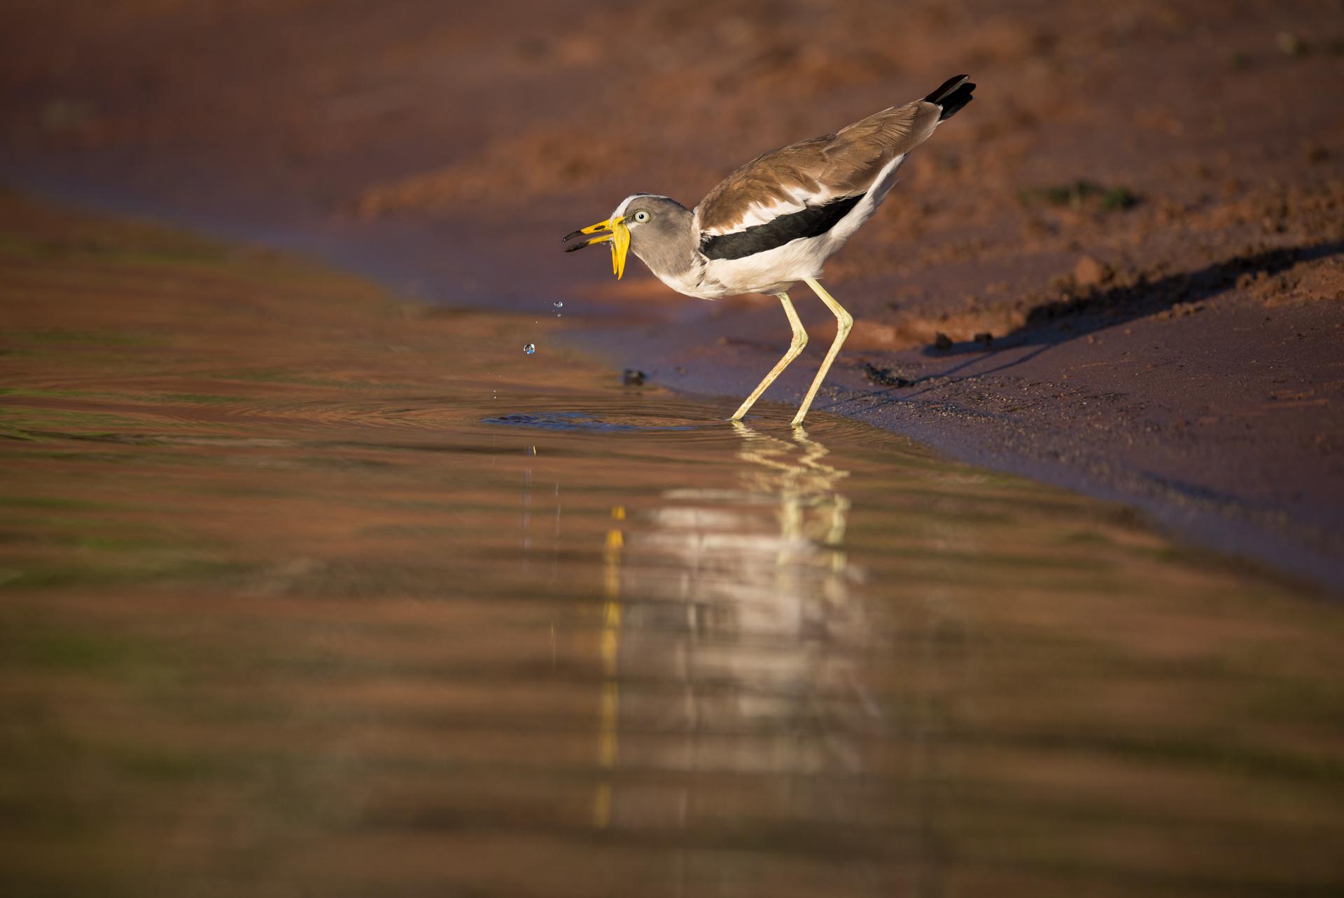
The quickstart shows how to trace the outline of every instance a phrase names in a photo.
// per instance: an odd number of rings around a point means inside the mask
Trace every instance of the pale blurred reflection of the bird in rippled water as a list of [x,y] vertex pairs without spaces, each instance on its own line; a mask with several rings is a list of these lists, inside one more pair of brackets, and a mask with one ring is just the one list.
[[880,722],[845,559],[848,472],[825,446],[735,425],[735,485],[613,509],[594,823],[716,829],[836,819],[808,788],[864,768]]

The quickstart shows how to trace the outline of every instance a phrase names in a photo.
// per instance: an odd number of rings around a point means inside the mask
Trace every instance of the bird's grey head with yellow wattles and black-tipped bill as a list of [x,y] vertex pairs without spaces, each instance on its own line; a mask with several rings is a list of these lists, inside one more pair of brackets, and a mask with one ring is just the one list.
[[612,218],[581,227],[566,242],[589,234],[586,241],[566,247],[566,253],[594,243],[612,245],[612,273],[625,274],[625,254],[634,251],[655,274],[676,276],[695,265],[698,239],[691,210],[669,196],[633,194],[621,200]]

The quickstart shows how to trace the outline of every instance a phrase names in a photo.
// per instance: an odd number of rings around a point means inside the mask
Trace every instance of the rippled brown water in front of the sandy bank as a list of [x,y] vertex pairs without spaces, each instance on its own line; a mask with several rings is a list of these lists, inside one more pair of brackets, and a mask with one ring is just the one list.
[[1337,604],[7,203],[0,893],[1344,887]]

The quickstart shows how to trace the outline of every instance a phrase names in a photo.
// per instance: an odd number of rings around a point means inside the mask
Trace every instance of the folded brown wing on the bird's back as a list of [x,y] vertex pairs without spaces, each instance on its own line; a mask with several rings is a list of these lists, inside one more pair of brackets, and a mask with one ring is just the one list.
[[757,156],[700,202],[700,229],[715,234],[737,230],[753,207],[797,208],[800,192],[818,202],[864,194],[887,163],[933,133],[939,113],[939,106],[917,99],[883,109],[833,134]]

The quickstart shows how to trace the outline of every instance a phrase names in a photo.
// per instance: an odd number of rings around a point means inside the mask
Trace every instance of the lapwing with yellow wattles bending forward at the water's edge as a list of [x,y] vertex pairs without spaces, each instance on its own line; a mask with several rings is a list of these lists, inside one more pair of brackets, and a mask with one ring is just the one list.
[[808,344],[788,293],[798,281],[806,284],[836,316],[836,336],[793,417],[792,425],[801,426],[853,327],[853,316],[820,284],[825,261],[878,210],[910,152],[969,104],[974,89],[969,75],[956,75],[922,99],[762,153],[694,210],[661,194],[632,194],[605,220],[567,234],[566,243],[587,239],[566,251],[609,243],[612,273],[620,278],[633,250],[660,281],[685,296],[780,298],[793,329],[789,350],[730,421],[741,421]]

